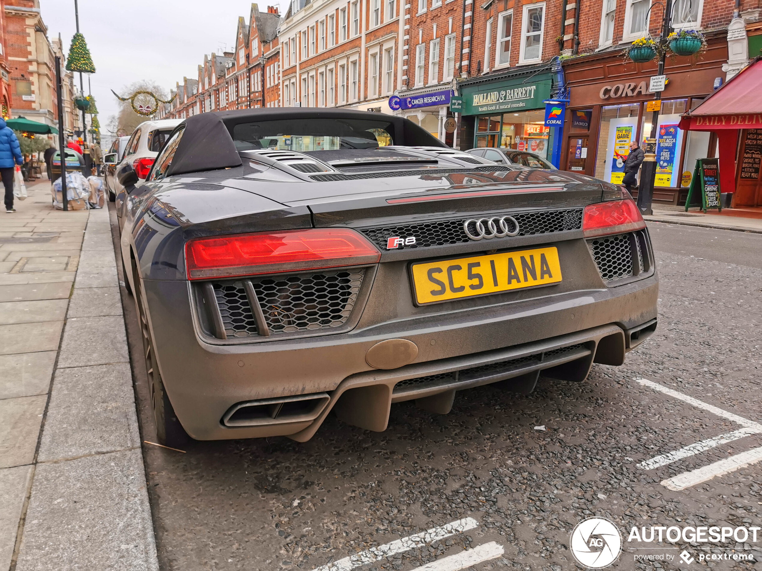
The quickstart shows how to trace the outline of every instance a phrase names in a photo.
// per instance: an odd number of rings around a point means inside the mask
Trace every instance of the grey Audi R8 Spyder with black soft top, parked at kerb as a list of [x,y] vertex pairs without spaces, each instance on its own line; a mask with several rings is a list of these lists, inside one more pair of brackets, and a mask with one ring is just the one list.
[[401,117],[202,113],[118,212],[158,438],[287,435],[333,411],[386,429],[394,403],[542,372],[582,381],[656,327],[635,203],[578,174],[495,164]]

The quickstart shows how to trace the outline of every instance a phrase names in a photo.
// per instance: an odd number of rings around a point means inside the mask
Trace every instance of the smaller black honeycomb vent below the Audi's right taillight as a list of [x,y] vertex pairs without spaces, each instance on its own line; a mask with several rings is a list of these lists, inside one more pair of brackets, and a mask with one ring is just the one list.
[[610,285],[638,276],[651,267],[642,230],[594,238],[588,240],[588,248],[600,277]]

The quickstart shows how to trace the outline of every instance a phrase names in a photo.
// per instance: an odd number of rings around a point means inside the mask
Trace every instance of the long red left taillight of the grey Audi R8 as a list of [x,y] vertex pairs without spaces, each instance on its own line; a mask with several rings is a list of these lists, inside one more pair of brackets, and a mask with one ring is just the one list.
[[349,228],[195,238],[185,244],[188,279],[357,266],[380,259],[379,250]]

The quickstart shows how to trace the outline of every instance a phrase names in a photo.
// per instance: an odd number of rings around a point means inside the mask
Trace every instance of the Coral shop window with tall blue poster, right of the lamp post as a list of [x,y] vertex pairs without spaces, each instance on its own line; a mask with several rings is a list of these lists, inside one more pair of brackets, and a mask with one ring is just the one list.
[[[661,101],[661,111],[656,129],[656,181],[655,187],[680,186],[680,152],[684,133],[677,128],[680,115],[688,110],[687,99]],[[645,142],[651,136],[653,113],[643,113],[640,139]]]

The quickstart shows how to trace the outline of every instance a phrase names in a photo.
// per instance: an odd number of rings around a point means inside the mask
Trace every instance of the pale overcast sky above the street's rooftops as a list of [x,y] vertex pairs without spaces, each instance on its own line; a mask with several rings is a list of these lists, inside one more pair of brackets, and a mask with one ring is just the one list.
[[[117,113],[117,98],[126,85],[146,79],[168,92],[183,77],[197,78],[203,55],[223,48],[232,50],[238,17],[248,24],[251,2],[244,0],[78,0],[79,31],[85,36],[96,73],[90,76],[98,104],[101,132]],[[257,2],[260,11],[287,0]],[[76,31],[74,0],[40,0],[43,21],[51,40],[63,40],[66,52]],[[83,75],[85,93],[88,77]],[[78,85],[78,74],[75,82]]]

